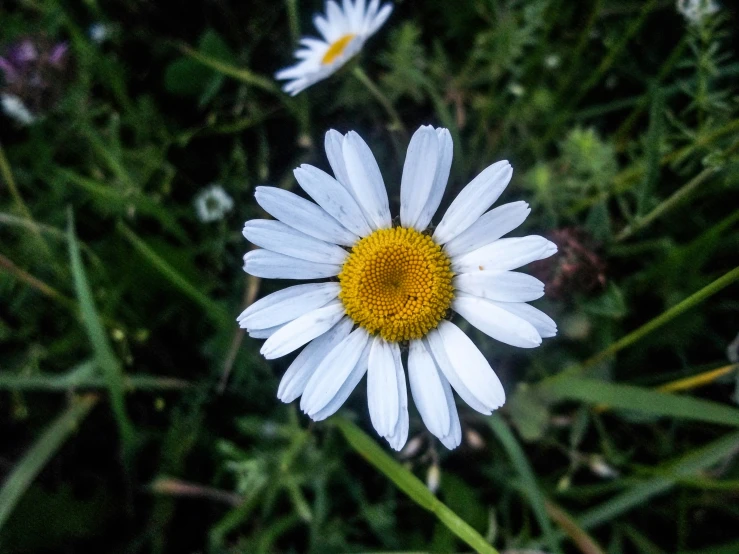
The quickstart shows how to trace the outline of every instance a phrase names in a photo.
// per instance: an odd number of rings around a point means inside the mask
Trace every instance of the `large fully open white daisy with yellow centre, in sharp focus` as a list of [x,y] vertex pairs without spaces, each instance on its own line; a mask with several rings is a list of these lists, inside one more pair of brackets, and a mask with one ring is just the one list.
[[319,421],[336,412],[367,373],[369,412],[377,432],[399,450],[408,437],[408,381],[429,431],[447,448],[462,433],[452,389],[490,414],[503,387],[452,311],[483,333],[522,348],[541,344],[557,326],[526,302],[544,294],[534,277],[512,271],[557,247],[539,236],[501,238],[529,214],[526,202],[488,208],[511,179],[507,161],[473,179],[439,225],[429,228],[452,163],[446,129],[421,127],[411,138],[400,184],[400,219],[390,214],[380,168],[355,132],[326,134],[334,176],[302,165],[291,192],[257,187],[256,199],[276,218],[247,221],[244,236],[261,249],[244,270],[271,279],[333,280],[288,287],[255,302],[240,326],[267,341],[267,359],[307,346],[282,378],[277,396]]

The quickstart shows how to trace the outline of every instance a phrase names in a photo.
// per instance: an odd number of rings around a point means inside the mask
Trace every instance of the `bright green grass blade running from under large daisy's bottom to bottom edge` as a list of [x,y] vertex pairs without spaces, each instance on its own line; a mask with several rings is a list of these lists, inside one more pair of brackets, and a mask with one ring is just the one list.
[[335,418],[335,424],[356,452],[390,479],[411,500],[430,511],[452,533],[480,554],[498,554],[477,531],[436,498],[426,485],[388,456],[375,441],[349,420]]

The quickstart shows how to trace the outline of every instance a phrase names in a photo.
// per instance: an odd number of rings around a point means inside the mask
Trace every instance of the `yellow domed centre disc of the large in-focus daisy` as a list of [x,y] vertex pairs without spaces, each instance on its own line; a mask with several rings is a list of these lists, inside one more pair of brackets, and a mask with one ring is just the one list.
[[388,341],[420,339],[452,303],[451,261],[414,229],[378,229],[357,242],[339,273],[339,298],[357,325]]

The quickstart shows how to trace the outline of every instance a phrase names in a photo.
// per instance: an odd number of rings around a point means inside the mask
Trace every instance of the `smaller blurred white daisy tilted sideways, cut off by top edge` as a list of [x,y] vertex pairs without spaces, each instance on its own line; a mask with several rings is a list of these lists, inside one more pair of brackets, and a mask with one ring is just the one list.
[[303,46],[295,52],[300,60],[275,74],[287,80],[282,90],[295,96],[309,86],[333,74],[364,46],[365,41],[382,27],[393,7],[380,6],[380,0],[343,0],[342,7],[334,0],[326,2],[326,15],[316,15],[313,23],[322,39],[304,37]]

